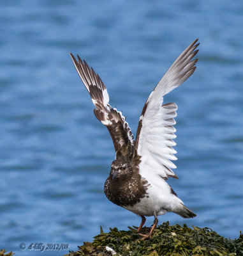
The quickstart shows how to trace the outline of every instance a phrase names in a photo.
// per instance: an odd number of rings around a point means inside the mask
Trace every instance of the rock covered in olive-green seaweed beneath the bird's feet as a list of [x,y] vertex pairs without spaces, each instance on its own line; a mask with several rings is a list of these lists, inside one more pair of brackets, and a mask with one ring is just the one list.
[[[147,234],[149,230],[145,227],[142,233]],[[240,233],[238,239],[232,240],[219,236],[210,228],[170,226],[166,222],[154,230],[152,239],[145,241],[140,239],[135,228],[129,227],[128,231],[110,228],[109,233],[101,228],[92,243],[86,242],[78,249],[64,256],[108,256],[114,251],[113,255],[122,256],[240,256],[243,255],[243,235]]]

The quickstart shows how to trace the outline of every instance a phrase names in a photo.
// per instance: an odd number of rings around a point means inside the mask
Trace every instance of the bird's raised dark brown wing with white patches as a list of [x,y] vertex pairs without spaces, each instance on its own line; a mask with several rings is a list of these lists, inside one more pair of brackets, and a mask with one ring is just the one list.
[[133,134],[128,126],[128,123],[125,120],[125,117],[122,116],[121,111],[112,108],[109,103],[109,96],[107,93],[107,88],[105,84],[100,79],[98,74],[90,68],[87,63],[82,61],[79,56],[76,60],[71,54],[71,58],[77,69],[78,75],[82,79],[85,88],[91,95],[92,102],[96,109],[94,109],[94,115],[98,120],[107,127],[112,137],[115,152],[121,152],[121,149],[124,150],[127,146],[134,146],[135,141],[133,140]]

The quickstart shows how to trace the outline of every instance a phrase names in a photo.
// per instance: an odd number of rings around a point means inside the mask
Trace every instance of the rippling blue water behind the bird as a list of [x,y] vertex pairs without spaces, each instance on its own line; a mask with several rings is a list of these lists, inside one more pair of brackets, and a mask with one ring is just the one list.
[[[92,241],[99,225],[127,229],[140,218],[107,200],[114,159],[108,131],[69,52],[107,85],[133,134],[149,93],[199,38],[198,68],[166,96],[176,102],[177,170],[170,184],[198,215],[159,223],[243,228],[242,1],[0,1],[0,248]],[[153,219],[148,218],[147,225]]]

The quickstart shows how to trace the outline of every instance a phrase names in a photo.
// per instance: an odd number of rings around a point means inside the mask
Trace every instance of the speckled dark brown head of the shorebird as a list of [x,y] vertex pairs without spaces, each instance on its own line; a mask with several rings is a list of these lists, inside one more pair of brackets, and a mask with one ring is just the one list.
[[112,169],[110,170],[110,178],[112,180],[127,179],[133,174],[133,168],[128,162],[113,161]]

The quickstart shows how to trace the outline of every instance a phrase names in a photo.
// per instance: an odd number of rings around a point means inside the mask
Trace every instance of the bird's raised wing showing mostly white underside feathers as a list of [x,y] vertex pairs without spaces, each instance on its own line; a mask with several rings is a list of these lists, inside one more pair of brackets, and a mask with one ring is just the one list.
[[176,130],[172,125],[175,125],[173,118],[177,116],[175,112],[177,105],[168,103],[161,106],[161,104],[166,93],[186,81],[195,71],[198,59],[192,60],[192,58],[198,52],[195,50],[199,45],[196,44],[197,41],[189,45],[175,60],[144,105],[135,142],[135,148],[141,156],[140,172],[144,176],[153,173],[163,179],[177,178],[171,170],[176,166],[170,161],[177,159],[173,156],[176,151],[172,148],[176,145],[173,141],[176,138],[174,134]]

